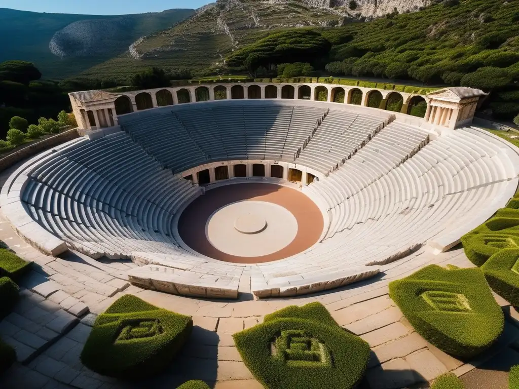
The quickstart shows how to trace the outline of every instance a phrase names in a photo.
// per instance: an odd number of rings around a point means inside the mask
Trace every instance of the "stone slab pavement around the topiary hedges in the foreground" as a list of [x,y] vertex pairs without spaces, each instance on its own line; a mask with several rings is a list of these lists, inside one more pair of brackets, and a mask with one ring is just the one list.
[[[389,281],[430,263],[472,266],[459,248],[436,256],[421,249],[387,265],[378,279],[329,293],[266,300],[253,300],[252,295],[244,293],[238,301],[216,301],[130,285],[126,271],[135,267],[130,261],[93,260],[76,253],[61,258],[45,256],[22,241],[5,219],[0,220],[0,240],[22,258],[35,262],[21,282],[21,299],[15,310],[0,322],[0,337],[15,347],[19,360],[0,377],[2,389],[171,389],[189,379],[202,379],[216,389],[260,389],[262,386],[243,364],[232,334],[261,323],[264,315],[280,308],[312,301],[323,303],[340,326],[370,343],[372,358],[360,384],[363,389],[397,389],[419,383],[427,387],[427,382],[441,373],[454,371],[462,376],[488,363],[494,354],[519,350],[519,313],[499,297],[497,301],[507,314],[504,334],[484,358],[470,363],[428,344],[389,298]],[[189,343],[170,369],[139,382],[100,376],[79,360],[95,316],[127,293],[191,315],[195,324]],[[472,387],[478,386],[469,389]]]

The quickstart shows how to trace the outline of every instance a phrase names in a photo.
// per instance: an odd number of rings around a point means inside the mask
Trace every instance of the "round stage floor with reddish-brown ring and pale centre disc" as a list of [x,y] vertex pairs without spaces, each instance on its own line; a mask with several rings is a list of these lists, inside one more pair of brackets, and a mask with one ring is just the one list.
[[260,263],[305,251],[323,226],[321,211],[302,192],[244,183],[208,190],[186,207],[178,228],[184,243],[200,254]]

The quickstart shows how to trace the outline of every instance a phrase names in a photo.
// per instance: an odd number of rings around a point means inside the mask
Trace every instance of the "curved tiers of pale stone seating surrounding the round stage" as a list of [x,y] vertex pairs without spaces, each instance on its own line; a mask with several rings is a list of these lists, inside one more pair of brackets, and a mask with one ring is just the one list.
[[[142,266],[129,272],[130,281],[174,294],[235,298],[245,276],[259,298],[346,285],[399,266],[424,244],[452,247],[517,189],[519,156],[499,138],[476,128],[439,131],[373,108],[212,101],[118,122],[20,166],[2,190],[2,209],[47,254],[70,248],[93,258],[131,258]],[[176,223],[203,193],[196,172],[252,163],[315,177],[300,179],[300,188],[323,214],[321,239],[254,266],[185,247]],[[230,174],[218,185],[289,185],[283,174]]]

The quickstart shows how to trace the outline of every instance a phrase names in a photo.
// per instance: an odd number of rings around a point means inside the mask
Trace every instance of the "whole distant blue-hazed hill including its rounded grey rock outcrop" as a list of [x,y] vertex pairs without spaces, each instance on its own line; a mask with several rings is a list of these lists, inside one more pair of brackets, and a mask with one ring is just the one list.
[[0,8],[0,62],[34,62],[45,78],[72,76],[127,51],[140,36],[166,29],[193,12],[171,9],[114,17]]

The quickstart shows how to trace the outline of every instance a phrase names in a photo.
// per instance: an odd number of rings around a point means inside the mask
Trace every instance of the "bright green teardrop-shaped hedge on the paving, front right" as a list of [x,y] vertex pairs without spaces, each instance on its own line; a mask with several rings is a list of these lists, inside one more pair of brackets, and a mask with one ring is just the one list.
[[389,284],[415,330],[448,354],[472,357],[501,335],[504,315],[480,269],[427,266]]

